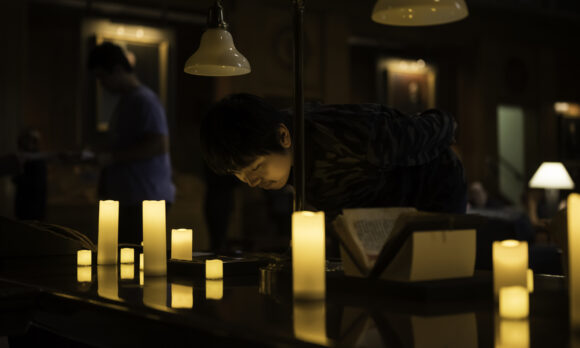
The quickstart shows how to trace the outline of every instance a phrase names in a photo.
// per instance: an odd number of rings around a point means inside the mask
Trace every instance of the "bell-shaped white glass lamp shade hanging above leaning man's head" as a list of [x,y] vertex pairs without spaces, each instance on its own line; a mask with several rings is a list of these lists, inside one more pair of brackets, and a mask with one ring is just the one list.
[[183,71],[202,76],[235,76],[252,69],[234,46],[232,35],[225,29],[212,28],[203,33],[199,48],[185,62]]

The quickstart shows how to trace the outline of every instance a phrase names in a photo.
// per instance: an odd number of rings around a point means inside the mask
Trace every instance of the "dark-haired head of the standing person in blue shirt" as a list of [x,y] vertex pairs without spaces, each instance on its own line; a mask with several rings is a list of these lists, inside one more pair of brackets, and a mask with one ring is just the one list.
[[113,43],[104,42],[93,48],[88,68],[111,93],[121,93],[127,86],[134,84],[133,67],[123,49]]

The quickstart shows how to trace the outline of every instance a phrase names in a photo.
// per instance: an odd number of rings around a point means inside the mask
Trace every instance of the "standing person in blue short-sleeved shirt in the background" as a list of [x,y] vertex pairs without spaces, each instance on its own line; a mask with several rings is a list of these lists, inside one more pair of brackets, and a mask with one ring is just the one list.
[[109,144],[99,198],[119,201],[119,242],[141,243],[142,201],[175,198],[169,129],[159,98],[136,76],[123,49],[95,47],[88,67],[103,88],[119,96],[109,125]]

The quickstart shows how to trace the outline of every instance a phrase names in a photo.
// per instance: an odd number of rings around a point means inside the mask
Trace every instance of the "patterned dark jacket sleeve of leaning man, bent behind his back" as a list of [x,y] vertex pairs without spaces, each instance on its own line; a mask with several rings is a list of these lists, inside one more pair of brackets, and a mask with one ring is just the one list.
[[455,142],[457,124],[441,110],[411,116],[382,107],[373,114],[369,127],[367,158],[387,169],[430,162]]

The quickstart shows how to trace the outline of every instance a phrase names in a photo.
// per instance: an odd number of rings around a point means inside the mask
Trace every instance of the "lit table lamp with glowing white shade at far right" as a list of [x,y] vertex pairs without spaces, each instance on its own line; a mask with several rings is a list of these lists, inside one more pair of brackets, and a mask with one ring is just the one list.
[[544,162],[536,170],[528,186],[545,189],[548,214],[552,216],[558,211],[559,190],[573,189],[574,182],[561,162]]

